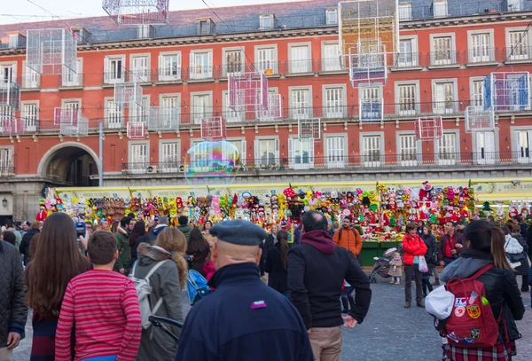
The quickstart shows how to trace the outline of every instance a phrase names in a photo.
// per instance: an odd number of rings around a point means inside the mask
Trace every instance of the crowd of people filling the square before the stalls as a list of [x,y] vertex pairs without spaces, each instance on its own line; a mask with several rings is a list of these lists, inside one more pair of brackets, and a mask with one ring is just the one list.
[[[113,224],[86,223],[81,234],[64,213],[43,223],[6,224],[0,361],[12,360],[28,310],[30,361],[340,360],[341,327],[361,324],[372,299],[360,266],[362,230],[349,216],[335,229],[322,213],[305,212],[293,247],[277,225],[267,233],[241,220],[198,228],[180,216],[178,224],[170,227],[165,216],[145,224],[130,215]],[[494,265],[478,279],[500,321],[497,343],[474,349],[444,342],[443,360],[511,360],[516,354],[515,320],[524,313],[516,277],[522,277],[522,292],[532,285],[525,230],[519,218],[504,225],[449,222],[437,247],[429,226],[406,225],[401,253],[391,262],[395,275],[390,273],[392,283],[401,284],[404,271],[406,308],[412,281],[416,305],[424,307],[433,286]],[[437,267],[444,267],[441,274]],[[185,317],[191,270],[213,292]],[[143,282],[147,287],[139,286]],[[183,323],[168,326],[179,343],[153,326],[150,315]]]

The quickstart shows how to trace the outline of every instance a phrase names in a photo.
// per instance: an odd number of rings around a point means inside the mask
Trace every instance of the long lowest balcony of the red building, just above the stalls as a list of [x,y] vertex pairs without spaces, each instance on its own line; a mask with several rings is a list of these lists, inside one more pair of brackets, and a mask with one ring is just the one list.
[[[494,152],[494,153],[387,153],[381,154],[379,151],[371,151],[366,154],[353,155],[329,155],[310,157],[307,153],[291,159],[287,157],[265,159],[247,158],[241,160],[241,165],[232,167],[231,171],[239,174],[259,173],[259,172],[290,172],[301,170],[316,171],[319,169],[341,169],[345,170],[397,170],[404,171],[410,169],[446,169],[453,165],[458,168],[471,169],[479,167],[485,169],[486,166],[494,167],[520,167],[532,169],[532,153],[520,152]],[[208,167],[207,167],[208,169]],[[140,162],[122,163],[122,174],[171,174],[183,173],[184,163],[180,161],[165,162]]]

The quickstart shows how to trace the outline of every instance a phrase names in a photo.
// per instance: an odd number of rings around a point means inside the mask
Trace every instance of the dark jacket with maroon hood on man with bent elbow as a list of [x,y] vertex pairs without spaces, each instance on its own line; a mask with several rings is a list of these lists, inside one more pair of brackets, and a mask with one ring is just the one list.
[[349,316],[361,324],[370,308],[370,281],[344,247],[337,247],[327,231],[301,234],[301,244],[288,252],[290,301],[307,328],[341,326],[343,281],[355,288],[355,307]]

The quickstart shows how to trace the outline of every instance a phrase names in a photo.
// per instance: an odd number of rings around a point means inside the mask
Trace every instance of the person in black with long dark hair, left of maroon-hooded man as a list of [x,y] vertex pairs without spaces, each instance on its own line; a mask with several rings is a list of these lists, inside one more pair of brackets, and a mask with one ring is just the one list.
[[277,243],[266,257],[264,271],[268,273],[268,286],[284,294],[288,298],[288,232],[277,232]]

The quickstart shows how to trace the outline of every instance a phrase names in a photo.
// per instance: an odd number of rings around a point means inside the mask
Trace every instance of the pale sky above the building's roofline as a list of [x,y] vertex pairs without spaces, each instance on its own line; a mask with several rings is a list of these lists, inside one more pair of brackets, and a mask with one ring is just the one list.
[[[170,10],[204,9],[201,0],[169,0]],[[210,7],[231,5],[286,3],[293,0],[205,0]],[[106,16],[102,0],[0,0],[9,6],[0,6],[0,24]],[[43,9],[45,10],[43,10]]]

